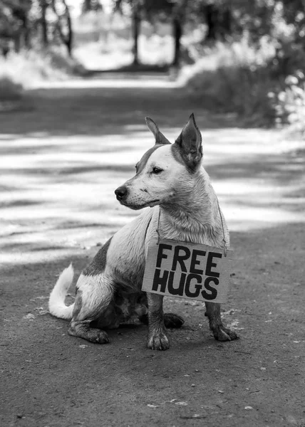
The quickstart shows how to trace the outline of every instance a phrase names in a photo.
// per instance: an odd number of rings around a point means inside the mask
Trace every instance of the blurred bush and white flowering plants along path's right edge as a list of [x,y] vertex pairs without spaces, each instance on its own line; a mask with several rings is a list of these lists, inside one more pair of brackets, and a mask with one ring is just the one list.
[[219,42],[194,65],[182,68],[180,78],[203,108],[235,113],[246,125],[288,124],[303,133],[305,56],[301,53],[299,62],[283,72],[277,55],[267,38],[255,46],[245,37]]

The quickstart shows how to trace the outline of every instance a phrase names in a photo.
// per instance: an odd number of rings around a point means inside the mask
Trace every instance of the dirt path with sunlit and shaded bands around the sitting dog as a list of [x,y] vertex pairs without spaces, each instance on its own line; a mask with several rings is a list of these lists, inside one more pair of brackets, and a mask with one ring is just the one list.
[[[163,83],[73,85],[0,115],[1,426],[304,427],[304,148]],[[79,273],[135,216],[113,190],[153,144],[145,115],[173,140],[193,110],[232,230],[223,316],[241,339],[215,342],[204,307],[183,300],[166,302],[186,319],[167,352],[145,349],[145,327],[105,346],[69,337],[46,313],[58,273],[71,260]]]

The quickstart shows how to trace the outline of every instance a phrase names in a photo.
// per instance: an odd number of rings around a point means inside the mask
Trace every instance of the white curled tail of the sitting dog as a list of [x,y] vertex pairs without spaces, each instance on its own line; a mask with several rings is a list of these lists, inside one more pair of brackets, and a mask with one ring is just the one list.
[[48,299],[48,311],[60,319],[72,319],[74,304],[66,305],[65,298],[68,288],[73,282],[74,270],[72,264],[63,270]]

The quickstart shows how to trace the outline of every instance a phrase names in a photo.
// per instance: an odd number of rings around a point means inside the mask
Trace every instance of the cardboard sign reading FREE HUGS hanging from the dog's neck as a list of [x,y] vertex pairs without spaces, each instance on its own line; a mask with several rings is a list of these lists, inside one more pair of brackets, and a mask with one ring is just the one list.
[[208,302],[226,302],[233,251],[152,239],[142,290]]

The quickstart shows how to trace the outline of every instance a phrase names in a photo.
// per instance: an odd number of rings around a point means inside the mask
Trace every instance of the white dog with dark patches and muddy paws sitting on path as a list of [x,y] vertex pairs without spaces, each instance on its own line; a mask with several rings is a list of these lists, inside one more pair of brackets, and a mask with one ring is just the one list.
[[[108,343],[105,329],[138,320],[148,325],[148,348],[166,350],[166,327],[181,327],[184,320],[163,314],[163,296],[143,292],[145,258],[156,228],[162,238],[229,247],[229,231],[217,196],[202,166],[202,136],[192,114],[171,144],[155,122],[145,118],[155,137],[136,164],[136,173],[115,190],[120,204],[145,209],[110,238],[82,271],[76,300],[66,306],[73,268],[63,270],[49,298],[51,315],[71,320],[68,334],[95,343]],[[225,249],[225,248],[224,248]],[[237,339],[224,327],[220,305],[205,302],[210,330],[219,341]]]

